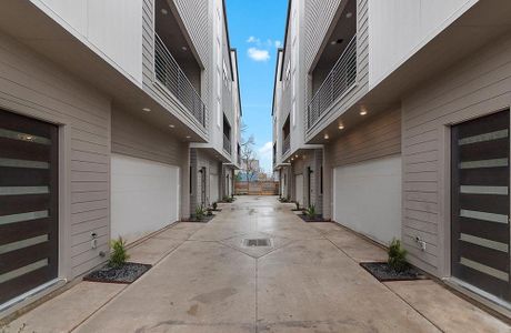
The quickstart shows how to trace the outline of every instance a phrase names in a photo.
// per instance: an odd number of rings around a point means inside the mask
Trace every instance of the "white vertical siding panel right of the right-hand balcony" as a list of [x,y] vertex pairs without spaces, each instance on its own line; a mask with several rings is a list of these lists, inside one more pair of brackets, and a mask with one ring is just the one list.
[[372,88],[478,0],[369,0]]

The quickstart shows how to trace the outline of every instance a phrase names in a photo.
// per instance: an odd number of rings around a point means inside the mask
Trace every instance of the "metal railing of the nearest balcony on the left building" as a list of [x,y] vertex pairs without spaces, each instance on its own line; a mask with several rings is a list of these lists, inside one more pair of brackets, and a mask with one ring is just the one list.
[[154,33],[154,72],[157,80],[206,128],[204,102],[157,33]]

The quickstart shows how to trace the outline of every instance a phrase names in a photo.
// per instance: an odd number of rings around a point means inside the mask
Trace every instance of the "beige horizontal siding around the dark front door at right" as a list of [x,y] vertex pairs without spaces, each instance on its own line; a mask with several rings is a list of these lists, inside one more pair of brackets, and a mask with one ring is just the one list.
[[[449,273],[449,124],[509,108],[511,36],[443,72],[403,99],[403,242],[412,262]],[[413,236],[427,244],[421,252]]]

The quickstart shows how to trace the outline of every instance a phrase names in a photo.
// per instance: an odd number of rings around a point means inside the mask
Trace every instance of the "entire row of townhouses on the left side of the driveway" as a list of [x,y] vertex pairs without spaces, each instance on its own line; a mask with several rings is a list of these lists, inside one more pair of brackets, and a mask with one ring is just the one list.
[[0,313],[230,195],[222,0],[0,4]]

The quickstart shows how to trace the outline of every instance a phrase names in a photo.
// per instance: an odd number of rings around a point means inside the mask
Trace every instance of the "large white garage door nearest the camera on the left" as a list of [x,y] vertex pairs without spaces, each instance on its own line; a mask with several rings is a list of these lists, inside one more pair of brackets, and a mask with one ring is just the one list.
[[111,238],[128,242],[179,220],[179,168],[112,155]]

